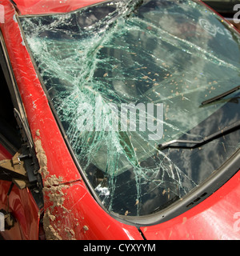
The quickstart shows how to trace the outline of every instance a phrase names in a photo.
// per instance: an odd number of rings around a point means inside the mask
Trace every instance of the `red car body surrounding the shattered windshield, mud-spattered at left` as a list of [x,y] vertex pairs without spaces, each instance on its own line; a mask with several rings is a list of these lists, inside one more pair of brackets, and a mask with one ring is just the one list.
[[[46,94],[15,20],[18,14],[50,14],[76,10],[99,0],[0,1],[4,22],[2,38],[26,111],[42,174],[44,208],[39,209],[28,188],[17,186],[9,195],[14,227],[2,231],[4,239],[239,239],[240,172],[214,194],[184,214],[154,226],[131,226],[111,217],[95,201],[75,166],[55,121]],[[1,15],[2,15],[1,14]],[[11,154],[0,145],[0,160]],[[0,181],[0,209],[6,209],[10,182]]]

